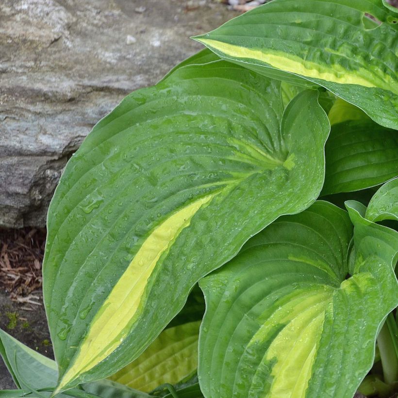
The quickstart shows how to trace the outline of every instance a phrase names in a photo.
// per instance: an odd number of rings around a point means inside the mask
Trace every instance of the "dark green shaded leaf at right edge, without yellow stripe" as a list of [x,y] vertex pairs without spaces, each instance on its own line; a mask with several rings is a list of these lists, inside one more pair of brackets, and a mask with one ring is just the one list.
[[398,136],[371,120],[334,124],[325,156],[321,195],[369,188],[397,176]]

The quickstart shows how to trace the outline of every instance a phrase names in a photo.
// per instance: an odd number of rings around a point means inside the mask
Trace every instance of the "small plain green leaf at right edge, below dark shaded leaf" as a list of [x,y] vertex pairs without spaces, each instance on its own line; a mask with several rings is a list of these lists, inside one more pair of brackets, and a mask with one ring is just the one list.
[[365,218],[370,221],[398,221],[398,178],[386,182],[370,200]]

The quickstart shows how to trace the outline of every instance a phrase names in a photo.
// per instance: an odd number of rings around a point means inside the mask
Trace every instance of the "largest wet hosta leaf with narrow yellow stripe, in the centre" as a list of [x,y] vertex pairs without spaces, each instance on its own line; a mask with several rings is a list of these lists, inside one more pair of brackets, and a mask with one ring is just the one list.
[[215,61],[176,69],[102,119],[50,204],[43,288],[59,389],[137,358],[191,287],[318,195],[317,92]]

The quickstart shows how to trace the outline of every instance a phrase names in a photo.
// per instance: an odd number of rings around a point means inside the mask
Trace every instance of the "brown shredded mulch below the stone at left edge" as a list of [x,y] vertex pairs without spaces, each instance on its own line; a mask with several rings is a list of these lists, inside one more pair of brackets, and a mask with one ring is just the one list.
[[44,228],[0,229],[0,287],[26,309],[41,305],[45,243]]

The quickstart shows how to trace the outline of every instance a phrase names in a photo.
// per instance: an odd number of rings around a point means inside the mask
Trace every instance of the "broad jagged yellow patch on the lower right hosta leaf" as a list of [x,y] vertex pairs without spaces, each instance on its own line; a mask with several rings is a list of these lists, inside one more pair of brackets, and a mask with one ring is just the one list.
[[274,360],[276,363],[271,372],[271,389],[266,394],[259,392],[259,397],[305,397],[325,309],[332,300],[333,290],[322,286],[298,294],[272,314],[253,336],[249,346],[266,340],[274,325],[286,323],[265,353],[265,363]]

